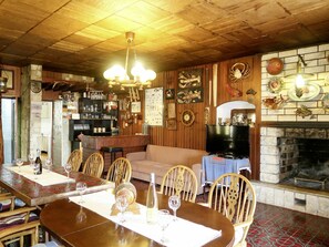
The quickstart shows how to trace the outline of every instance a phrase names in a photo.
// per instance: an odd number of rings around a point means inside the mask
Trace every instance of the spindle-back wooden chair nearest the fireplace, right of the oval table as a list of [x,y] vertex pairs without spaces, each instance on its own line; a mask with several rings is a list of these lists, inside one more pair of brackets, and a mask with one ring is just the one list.
[[234,246],[247,246],[246,237],[256,209],[256,193],[251,183],[240,174],[223,174],[210,187],[207,206],[234,224]]

